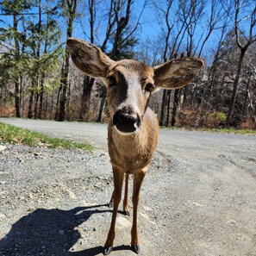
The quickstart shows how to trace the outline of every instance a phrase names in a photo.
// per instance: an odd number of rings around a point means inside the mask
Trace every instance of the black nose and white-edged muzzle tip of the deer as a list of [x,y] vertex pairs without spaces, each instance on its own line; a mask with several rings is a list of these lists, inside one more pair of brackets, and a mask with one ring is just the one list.
[[113,116],[113,123],[122,133],[134,133],[140,127],[140,117],[117,111]]

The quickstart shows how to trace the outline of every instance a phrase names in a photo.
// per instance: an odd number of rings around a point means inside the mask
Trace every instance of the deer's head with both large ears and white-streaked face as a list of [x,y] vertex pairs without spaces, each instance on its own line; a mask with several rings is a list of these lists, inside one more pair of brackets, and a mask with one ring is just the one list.
[[189,84],[203,66],[194,58],[172,59],[150,67],[132,59],[114,61],[89,42],[70,38],[67,46],[74,64],[86,75],[105,79],[109,114],[120,134],[140,129],[149,97],[158,88]]

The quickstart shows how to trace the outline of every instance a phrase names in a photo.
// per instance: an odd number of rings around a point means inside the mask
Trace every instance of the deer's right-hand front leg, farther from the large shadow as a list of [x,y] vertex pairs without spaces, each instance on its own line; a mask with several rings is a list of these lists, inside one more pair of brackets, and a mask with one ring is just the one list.
[[131,230],[131,246],[135,253],[140,253],[139,237],[138,237],[138,205],[140,201],[140,188],[142,181],[147,172],[147,167],[142,169],[140,172],[134,173],[134,190],[133,190],[133,204],[134,204],[134,215],[133,215],[133,226]]

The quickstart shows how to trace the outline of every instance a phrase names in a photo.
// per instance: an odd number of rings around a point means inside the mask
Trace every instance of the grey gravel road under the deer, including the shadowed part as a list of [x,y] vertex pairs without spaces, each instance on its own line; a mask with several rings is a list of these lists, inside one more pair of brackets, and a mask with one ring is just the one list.
[[[0,153],[0,255],[101,254],[113,189],[107,126],[0,122],[95,147],[84,153],[5,144]],[[256,256],[255,195],[255,136],[160,130],[140,193],[140,255]],[[135,255],[129,248],[131,222],[120,212],[111,255]]]

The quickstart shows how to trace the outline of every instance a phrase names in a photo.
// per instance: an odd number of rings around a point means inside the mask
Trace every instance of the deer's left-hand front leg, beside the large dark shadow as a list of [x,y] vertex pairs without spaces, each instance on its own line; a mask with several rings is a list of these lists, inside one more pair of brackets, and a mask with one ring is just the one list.
[[109,228],[108,238],[103,248],[104,255],[108,255],[109,253],[111,253],[113,248],[113,243],[115,239],[116,215],[117,215],[118,205],[122,197],[122,182],[124,177],[123,170],[113,166],[113,177],[114,177],[114,191],[113,191],[112,197],[114,202],[114,209],[112,213],[112,221]]

